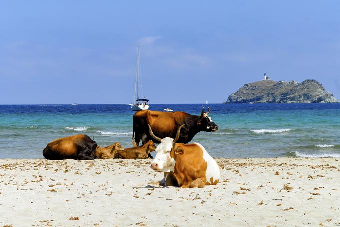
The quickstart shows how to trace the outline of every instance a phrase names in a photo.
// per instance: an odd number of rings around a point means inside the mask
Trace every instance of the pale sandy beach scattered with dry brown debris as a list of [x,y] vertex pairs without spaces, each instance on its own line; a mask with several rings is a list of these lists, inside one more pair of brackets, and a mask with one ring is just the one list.
[[340,161],[216,159],[205,188],[154,184],[151,160],[0,160],[0,226],[336,226]]

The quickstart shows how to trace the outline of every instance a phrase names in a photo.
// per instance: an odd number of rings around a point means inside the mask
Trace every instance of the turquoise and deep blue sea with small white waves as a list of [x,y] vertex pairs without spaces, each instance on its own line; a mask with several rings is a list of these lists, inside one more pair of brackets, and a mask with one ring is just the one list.
[[[191,142],[213,157],[340,157],[340,103],[209,107],[218,131],[200,132]],[[202,105],[150,106],[164,108],[199,115]],[[86,134],[101,146],[118,141],[131,147],[133,114],[127,104],[0,105],[0,158],[43,158],[50,141],[75,134]]]

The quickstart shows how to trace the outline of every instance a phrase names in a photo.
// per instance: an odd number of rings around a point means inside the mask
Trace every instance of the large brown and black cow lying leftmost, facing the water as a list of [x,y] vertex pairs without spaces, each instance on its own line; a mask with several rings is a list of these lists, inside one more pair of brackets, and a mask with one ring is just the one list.
[[84,134],[68,136],[53,140],[43,149],[46,159],[76,159],[87,160],[95,158],[97,143]]

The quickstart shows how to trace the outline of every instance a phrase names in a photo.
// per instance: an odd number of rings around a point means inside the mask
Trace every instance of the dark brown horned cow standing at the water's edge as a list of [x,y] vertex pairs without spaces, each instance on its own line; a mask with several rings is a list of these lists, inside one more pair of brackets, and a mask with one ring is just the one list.
[[[203,107],[203,106],[202,106]],[[152,110],[141,110],[133,115],[133,135],[132,144],[138,146],[140,140],[145,144],[149,140],[159,143],[149,134],[147,124],[151,125],[154,132],[161,138],[176,136],[177,128],[185,124],[182,128],[178,143],[188,143],[200,131],[215,132],[218,126],[208,116],[208,112],[204,112],[204,107],[199,116],[191,115],[182,111],[161,112]]]

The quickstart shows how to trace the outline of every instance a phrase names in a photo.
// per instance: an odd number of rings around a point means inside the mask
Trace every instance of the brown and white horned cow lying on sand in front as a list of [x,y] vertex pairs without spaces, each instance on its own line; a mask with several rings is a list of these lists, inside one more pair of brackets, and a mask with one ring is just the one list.
[[199,143],[176,143],[180,137],[181,125],[174,139],[163,139],[155,136],[149,126],[150,135],[161,142],[156,149],[156,157],[151,168],[164,173],[165,186],[181,188],[203,188],[205,185],[216,185],[219,182],[220,170],[217,162]]

